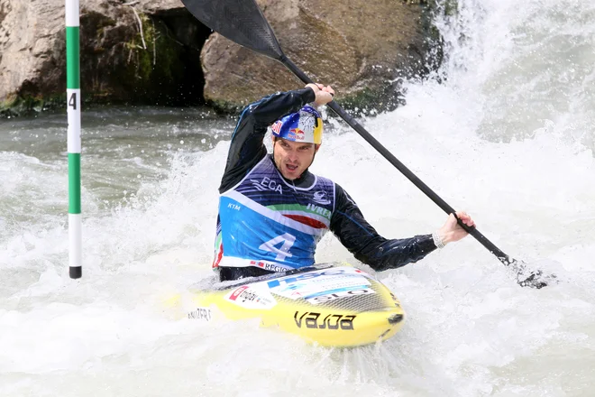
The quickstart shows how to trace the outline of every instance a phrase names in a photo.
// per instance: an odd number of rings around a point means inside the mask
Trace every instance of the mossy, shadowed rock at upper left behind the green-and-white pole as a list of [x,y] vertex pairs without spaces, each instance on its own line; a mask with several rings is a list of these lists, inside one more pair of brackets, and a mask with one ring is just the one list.
[[[0,21],[0,112],[65,107],[64,1],[0,0]],[[185,27],[187,43],[178,40],[176,22]],[[209,33],[178,0],[81,2],[83,100],[151,105],[202,101],[202,75],[193,77],[200,70],[200,47],[189,44],[204,42]]]

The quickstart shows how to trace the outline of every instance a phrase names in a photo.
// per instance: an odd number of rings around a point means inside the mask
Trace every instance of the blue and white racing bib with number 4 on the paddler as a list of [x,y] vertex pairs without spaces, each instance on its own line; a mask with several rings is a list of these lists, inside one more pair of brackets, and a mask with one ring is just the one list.
[[334,182],[308,188],[284,180],[270,156],[219,198],[213,267],[282,272],[314,264],[316,244],[334,211]]

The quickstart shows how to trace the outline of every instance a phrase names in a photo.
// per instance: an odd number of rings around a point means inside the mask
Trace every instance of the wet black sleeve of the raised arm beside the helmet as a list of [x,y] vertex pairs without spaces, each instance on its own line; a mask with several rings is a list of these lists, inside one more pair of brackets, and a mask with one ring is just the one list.
[[278,92],[246,106],[235,126],[219,193],[233,188],[267,155],[262,143],[267,127],[315,100],[312,88]]

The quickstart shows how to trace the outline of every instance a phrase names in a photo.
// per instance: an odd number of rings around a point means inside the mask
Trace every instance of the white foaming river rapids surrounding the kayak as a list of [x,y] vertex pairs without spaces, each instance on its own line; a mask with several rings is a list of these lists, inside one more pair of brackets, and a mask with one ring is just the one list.
[[[362,120],[529,269],[471,237],[377,273],[407,311],[386,343],[309,346],[253,322],[206,326],[164,301],[211,274],[233,119],[206,109],[83,115],[84,277],[68,278],[66,116],[0,121],[0,395],[590,396],[595,389],[595,3],[461,0],[436,79]],[[298,87],[298,86],[297,86]],[[445,215],[331,120],[312,170],[382,235]],[[328,235],[318,262],[349,254]],[[366,268],[363,266],[363,268]]]

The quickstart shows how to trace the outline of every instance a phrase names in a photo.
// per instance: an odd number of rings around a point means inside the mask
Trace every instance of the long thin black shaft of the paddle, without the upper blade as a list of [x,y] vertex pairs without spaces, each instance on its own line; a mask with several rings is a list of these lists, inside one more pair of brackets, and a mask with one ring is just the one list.
[[[298,66],[293,63],[291,60],[288,59],[285,55],[282,55],[279,58],[279,61],[283,63],[293,74],[295,74],[300,80],[302,80],[306,84],[315,84],[311,78],[308,78],[306,73],[304,73]],[[333,109],[334,113],[339,115],[343,120],[362,136],[371,146],[376,149],[385,159],[387,159],[392,165],[394,165],[398,171],[401,171],[403,175],[407,178],[407,180],[411,180],[411,182],[417,186],[418,189],[423,191],[428,198],[435,202],[435,204],[442,208],[446,214],[453,214],[456,217],[456,212],[454,209],[441,199],[434,190],[430,189],[426,183],[422,180],[417,178],[417,176],[410,171],[405,164],[399,162],[397,157],[395,157],[387,148],[385,148],[376,138],[374,138],[365,128],[362,127],[360,123],[355,120],[352,115],[349,115],[343,107],[339,106],[336,102],[332,101],[327,106]],[[475,237],[477,241],[481,243],[484,247],[486,247],[490,253],[496,255],[501,263],[508,265],[510,263],[510,258],[507,254],[504,254],[496,245],[494,245],[485,235],[482,235],[479,230],[475,226],[467,226],[462,223],[461,219],[457,217],[457,223],[470,235]]]

